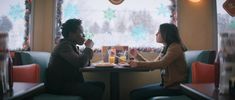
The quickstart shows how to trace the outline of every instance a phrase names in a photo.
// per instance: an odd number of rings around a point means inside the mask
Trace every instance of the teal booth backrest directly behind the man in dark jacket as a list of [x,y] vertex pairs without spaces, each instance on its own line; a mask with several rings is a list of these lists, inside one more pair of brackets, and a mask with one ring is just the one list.
[[40,66],[40,82],[45,81],[45,71],[49,63],[50,53],[41,51],[20,51],[21,65],[38,64]]

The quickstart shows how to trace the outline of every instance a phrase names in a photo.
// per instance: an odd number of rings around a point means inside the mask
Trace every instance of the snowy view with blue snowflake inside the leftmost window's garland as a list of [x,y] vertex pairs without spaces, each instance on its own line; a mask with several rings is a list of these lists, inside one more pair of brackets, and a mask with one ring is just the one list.
[[[0,25],[1,30],[9,28],[7,26],[12,25],[11,29],[8,31],[8,47],[11,50],[21,49],[24,42],[25,34],[25,1],[24,0],[1,0],[0,6]],[[2,26],[4,19],[9,20],[8,23]],[[17,41],[17,42],[16,42]]]

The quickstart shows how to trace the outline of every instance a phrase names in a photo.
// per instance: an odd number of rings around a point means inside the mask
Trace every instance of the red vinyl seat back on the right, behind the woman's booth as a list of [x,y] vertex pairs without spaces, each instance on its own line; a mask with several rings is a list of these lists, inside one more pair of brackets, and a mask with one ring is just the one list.
[[215,66],[202,62],[192,63],[192,83],[214,83]]

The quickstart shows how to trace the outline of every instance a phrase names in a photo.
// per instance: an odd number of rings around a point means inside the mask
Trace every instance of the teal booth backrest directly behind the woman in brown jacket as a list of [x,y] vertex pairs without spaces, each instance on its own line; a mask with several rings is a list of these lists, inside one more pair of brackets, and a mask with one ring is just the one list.
[[192,82],[192,63],[199,61],[206,64],[213,64],[216,56],[214,50],[189,50],[185,52],[185,60],[187,63],[187,80],[186,83]]

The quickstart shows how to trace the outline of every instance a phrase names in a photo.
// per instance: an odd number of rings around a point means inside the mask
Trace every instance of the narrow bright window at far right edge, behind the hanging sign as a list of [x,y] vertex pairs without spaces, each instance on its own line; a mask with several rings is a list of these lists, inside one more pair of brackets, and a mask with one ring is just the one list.
[[[221,64],[224,68],[233,66],[235,62],[235,17],[225,11],[223,4],[226,0],[217,0],[217,27],[218,27],[218,51]],[[229,0],[227,0],[229,1]],[[233,6],[232,6],[233,5]],[[234,4],[230,4],[234,7]],[[231,63],[232,65],[229,65]],[[222,69],[223,71],[224,69]],[[222,72],[221,71],[221,72]],[[224,73],[224,72],[223,72]],[[225,83],[222,82],[224,85]]]

